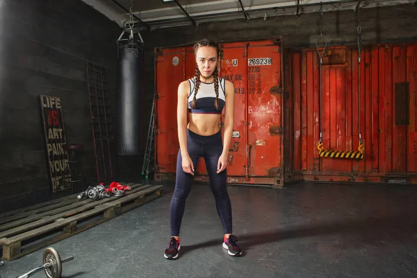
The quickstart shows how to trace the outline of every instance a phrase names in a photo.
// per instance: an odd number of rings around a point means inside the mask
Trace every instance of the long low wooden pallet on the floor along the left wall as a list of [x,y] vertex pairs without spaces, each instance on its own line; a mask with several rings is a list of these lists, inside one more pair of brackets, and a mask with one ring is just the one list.
[[3,260],[13,261],[79,234],[163,195],[163,186],[127,184],[123,197],[78,201],[71,195],[0,215]]

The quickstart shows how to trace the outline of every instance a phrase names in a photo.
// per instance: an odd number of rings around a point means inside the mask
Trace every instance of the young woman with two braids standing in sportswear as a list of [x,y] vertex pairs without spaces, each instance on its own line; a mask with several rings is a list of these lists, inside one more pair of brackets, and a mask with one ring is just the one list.
[[[179,84],[177,124],[179,152],[177,180],[170,204],[171,238],[166,259],[177,259],[179,229],[190,193],[197,161],[204,158],[215,206],[224,230],[224,249],[231,256],[242,254],[231,234],[231,203],[227,193],[227,160],[234,123],[234,85],[218,77],[218,44],[201,40],[195,44],[195,77]],[[224,108],[224,138],[220,117]],[[189,122],[187,122],[187,113]]]

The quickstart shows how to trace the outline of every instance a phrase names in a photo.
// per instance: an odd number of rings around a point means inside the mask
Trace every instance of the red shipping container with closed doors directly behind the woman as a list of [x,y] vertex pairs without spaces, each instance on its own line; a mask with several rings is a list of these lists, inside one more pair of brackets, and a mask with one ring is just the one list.
[[[219,76],[235,87],[228,183],[282,186],[281,38],[222,43],[220,49]],[[179,151],[177,88],[195,75],[193,46],[156,49],[155,57],[155,178],[174,180]],[[199,160],[195,180],[208,181],[204,159]]]

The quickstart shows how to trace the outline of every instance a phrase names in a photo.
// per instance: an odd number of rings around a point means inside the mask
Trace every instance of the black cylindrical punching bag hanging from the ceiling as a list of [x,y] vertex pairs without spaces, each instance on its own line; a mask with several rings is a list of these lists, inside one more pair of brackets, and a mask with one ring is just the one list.
[[[124,39],[124,35],[129,38]],[[117,40],[118,98],[117,154],[142,152],[142,63],[143,40],[139,31],[126,28]]]

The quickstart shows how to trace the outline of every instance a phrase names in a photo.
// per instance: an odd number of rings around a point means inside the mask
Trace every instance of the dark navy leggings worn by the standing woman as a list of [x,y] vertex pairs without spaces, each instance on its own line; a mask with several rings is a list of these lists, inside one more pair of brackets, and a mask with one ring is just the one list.
[[[215,206],[222,222],[224,234],[231,234],[231,203],[226,186],[227,170],[216,173],[219,157],[223,151],[221,132],[219,131],[212,136],[200,136],[187,129],[187,149],[193,161],[194,170],[196,170],[198,159],[200,157],[204,158],[211,192],[215,197]],[[186,199],[191,190],[193,177],[192,174],[183,171],[181,150],[179,150],[175,190],[170,204],[171,236],[179,236]]]

